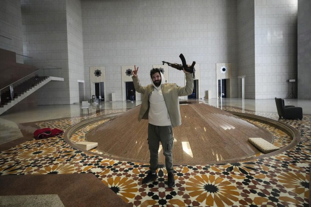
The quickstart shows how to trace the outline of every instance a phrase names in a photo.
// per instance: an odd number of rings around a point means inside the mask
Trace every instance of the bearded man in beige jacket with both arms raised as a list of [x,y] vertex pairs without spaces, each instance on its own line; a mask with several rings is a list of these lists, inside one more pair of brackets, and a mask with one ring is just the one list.
[[159,142],[165,155],[165,167],[168,172],[168,187],[175,186],[173,175],[172,149],[174,144],[173,127],[181,125],[179,111],[179,96],[192,94],[193,76],[183,69],[186,74],[186,86],[179,87],[175,83],[165,83],[163,74],[158,68],[150,71],[151,84],[142,87],[137,77],[138,67],[132,72],[135,90],[142,93],[138,121],[148,119],[148,145],[150,151],[150,171],[142,180],[145,184],[158,178],[158,150]]

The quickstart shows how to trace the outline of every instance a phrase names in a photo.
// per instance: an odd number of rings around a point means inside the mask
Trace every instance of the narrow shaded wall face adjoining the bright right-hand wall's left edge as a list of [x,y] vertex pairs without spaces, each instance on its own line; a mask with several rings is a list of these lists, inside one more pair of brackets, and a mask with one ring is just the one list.
[[[237,62],[238,76],[245,76],[244,97],[255,98],[255,30],[254,1],[237,1]],[[242,97],[239,80],[238,97]]]

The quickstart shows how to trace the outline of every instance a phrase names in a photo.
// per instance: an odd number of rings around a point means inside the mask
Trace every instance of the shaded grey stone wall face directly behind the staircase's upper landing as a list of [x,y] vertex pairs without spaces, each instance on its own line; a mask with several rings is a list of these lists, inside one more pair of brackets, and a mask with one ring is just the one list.
[[70,104],[66,1],[22,1],[21,12],[24,54],[32,57],[25,63],[37,68],[61,68],[44,70],[44,75],[64,78],[40,88],[38,104]]

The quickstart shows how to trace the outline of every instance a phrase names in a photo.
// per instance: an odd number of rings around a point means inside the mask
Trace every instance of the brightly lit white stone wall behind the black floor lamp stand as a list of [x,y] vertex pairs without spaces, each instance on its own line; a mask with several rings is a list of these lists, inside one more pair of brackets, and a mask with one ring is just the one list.
[[255,74],[256,99],[291,92],[288,79],[297,79],[297,0],[255,0]]

